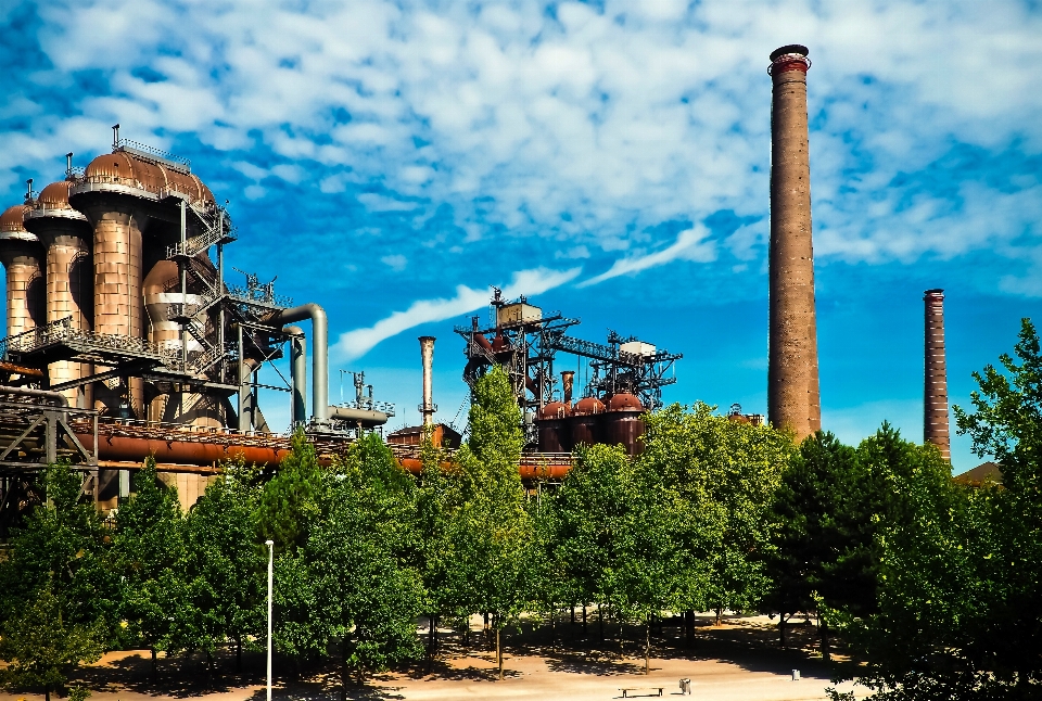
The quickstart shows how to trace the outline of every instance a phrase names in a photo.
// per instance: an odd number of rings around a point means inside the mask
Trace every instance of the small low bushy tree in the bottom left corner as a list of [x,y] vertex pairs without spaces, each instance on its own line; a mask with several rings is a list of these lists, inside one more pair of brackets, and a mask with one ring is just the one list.
[[8,689],[42,687],[47,701],[51,701],[51,691],[65,686],[71,670],[101,658],[104,622],[99,619],[89,626],[68,624],[62,609],[48,585],[0,627],[0,660],[8,662],[0,671],[0,681]]

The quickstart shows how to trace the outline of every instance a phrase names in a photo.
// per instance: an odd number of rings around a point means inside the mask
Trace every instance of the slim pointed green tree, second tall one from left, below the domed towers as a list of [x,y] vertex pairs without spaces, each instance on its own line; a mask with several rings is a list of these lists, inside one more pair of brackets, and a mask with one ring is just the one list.
[[152,458],[134,485],[116,514],[115,549],[126,582],[124,617],[152,652],[154,679],[156,652],[182,650],[192,638],[185,520],[177,489],[161,486]]

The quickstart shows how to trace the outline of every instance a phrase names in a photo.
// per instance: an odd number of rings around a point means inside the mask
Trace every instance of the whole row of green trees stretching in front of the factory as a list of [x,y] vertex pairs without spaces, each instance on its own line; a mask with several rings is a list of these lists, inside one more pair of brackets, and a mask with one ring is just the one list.
[[230,641],[241,655],[265,641],[270,539],[276,649],[296,665],[334,655],[345,685],[421,657],[420,615],[433,657],[439,620],[485,614],[501,675],[500,634],[522,612],[596,604],[601,625],[645,625],[646,660],[663,612],[778,614],[783,646],[788,620],[816,612],[824,655],[842,637],[886,698],[1032,698],[1042,354],[1029,321],[1016,358],[977,379],[974,412],[956,416],[1001,461],[1001,487],[954,483],[936,448],[887,424],[856,447],[828,433],[797,446],[697,405],[649,416],[635,459],[593,446],[556,489],[526,489],[501,371],[478,384],[467,445],[452,459],[428,445],[419,477],[378,436],[331,467],[297,436],[278,471],[228,466],[183,515],[147,468],[112,524],[58,466],[0,564],[0,658],[10,684],[49,693],[104,649],[151,649],[153,671],[160,650],[212,661]]

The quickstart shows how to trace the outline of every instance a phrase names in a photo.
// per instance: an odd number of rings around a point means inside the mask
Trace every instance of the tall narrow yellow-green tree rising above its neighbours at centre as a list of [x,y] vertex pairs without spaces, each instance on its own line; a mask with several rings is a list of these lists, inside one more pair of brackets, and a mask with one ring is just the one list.
[[521,411],[503,368],[474,385],[469,431],[467,445],[457,454],[462,505],[452,537],[471,563],[471,610],[492,616],[501,679],[501,632],[528,602],[532,579],[532,525],[518,472]]

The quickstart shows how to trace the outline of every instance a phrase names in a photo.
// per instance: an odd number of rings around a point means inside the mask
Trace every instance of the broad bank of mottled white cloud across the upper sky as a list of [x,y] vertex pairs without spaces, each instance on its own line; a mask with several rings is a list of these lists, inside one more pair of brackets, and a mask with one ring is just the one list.
[[[374,212],[418,199],[449,205],[460,227],[552,228],[575,246],[638,247],[632,232],[665,220],[700,221],[719,209],[765,217],[764,68],[770,50],[792,40],[814,60],[822,259],[1003,251],[1025,232],[1017,209],[989,206],[1008,189],[973,169],[949,175],[981,183],[966,202],[970,220],[991,211],[984,232],[949,212],[960,196],[950,188],[906,206],[910,186],[898,181],[953,143],[1042,151],[1042,91],[1032,89],[1042,14],[1015,0],[609,0],[600,13],[562,3],[556,18],[537,0],[176,10],[158,0],[59,0],[39,12],[54,68],[36,71],[34,84],[65,90],[69,72],[91,69],[112,94],[76,101],[69,91],[74,103],[60,112],[11,94],[12,114],[37,116],[28,133],[0,135],[0,184],[69,149],[97,152],[119,120],[130,138],[162,145],[187,136],[231,149],[230,167],[244,158],[236,149],[259,140],[288,162],[328,168],[276,163],[266,176],[314,178],[323,193],[346,188],[339,170],[350,164],[352,181],[385,188],[385,200],[367,203]],[[333,116],[341,112],[348,117]],[[75,130],[69,113],[82,115]],[[748,254],[748,240],[730,243]]]

